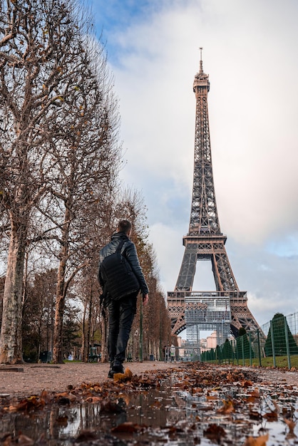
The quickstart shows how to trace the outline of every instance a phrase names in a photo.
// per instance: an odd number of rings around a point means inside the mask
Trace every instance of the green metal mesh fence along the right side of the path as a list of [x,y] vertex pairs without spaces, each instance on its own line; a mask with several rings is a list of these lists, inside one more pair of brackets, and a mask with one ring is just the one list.
[[[237,365],[273,365],[298,368],[298,313],[275,314],[260,330],[226,340],[216,348],[202,351],[202,362]],[[292,364],[293,363],[293,364]]]

